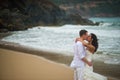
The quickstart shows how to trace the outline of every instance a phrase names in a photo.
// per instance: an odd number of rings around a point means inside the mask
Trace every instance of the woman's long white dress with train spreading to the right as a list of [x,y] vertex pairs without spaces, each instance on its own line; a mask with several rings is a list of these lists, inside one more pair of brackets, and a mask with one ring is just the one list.
[[[92,53],[88,50],[86,51],[86,59],[92,61]],[[107,80],[107,77],[102,76],[98,73],[93,72],[93,67],[89,67],[87,64],[84,69],[84,80]]]

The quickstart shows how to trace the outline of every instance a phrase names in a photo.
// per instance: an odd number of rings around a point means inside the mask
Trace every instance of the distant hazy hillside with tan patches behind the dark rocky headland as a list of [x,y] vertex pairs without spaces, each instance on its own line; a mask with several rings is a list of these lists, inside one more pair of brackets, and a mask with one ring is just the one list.
[[[50,0],[66,12],[83,17],[120,17],[120,0]],[[76,11],[75,11],[76,10]]]

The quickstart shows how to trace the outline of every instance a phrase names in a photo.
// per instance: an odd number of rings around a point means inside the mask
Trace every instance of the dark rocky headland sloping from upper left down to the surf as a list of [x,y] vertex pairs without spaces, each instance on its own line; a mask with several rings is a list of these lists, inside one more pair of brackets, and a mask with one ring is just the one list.
[[64,24],[94,25],[79,14],[67,14],[48,0],[0,0],[0,29],[17,31]]

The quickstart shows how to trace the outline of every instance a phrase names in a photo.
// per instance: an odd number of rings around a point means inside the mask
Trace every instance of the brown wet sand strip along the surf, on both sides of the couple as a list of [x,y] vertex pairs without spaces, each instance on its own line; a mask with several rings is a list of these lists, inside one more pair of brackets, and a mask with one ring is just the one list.
[[[6,50],[22,52],[22,53],[27,53],[30,55],[37,55],[37,56],[44,57],[48,60],[52,60],[52,61],[60,63],[60,64],[65,64],[67,66],[69,66],[69,64],[73,58],[73,56],[37,50],[37,49],[30,48],[30,47],[22,46],[22,45],[19,45],[16,43],[11,43],[11,42],[1,41],[1,40],[0,40],[0,48],[6,49]],[[107,76],[109,80],[120,79],[120,76],[118,74],[118,73],[120,73],[119,66],[120,65],[111,65],[111,64],[105,64],[100,61],[94,61],[94,71],[96,73]],[[114,79],[114,78],[116,78],[116,79]]]

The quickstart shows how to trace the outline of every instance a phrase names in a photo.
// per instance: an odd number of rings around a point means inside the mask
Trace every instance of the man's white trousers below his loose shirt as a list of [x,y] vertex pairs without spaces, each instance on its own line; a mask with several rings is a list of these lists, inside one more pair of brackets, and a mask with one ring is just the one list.
[[74,69],[74,80],[84,80],[84,68],[75,68]]

